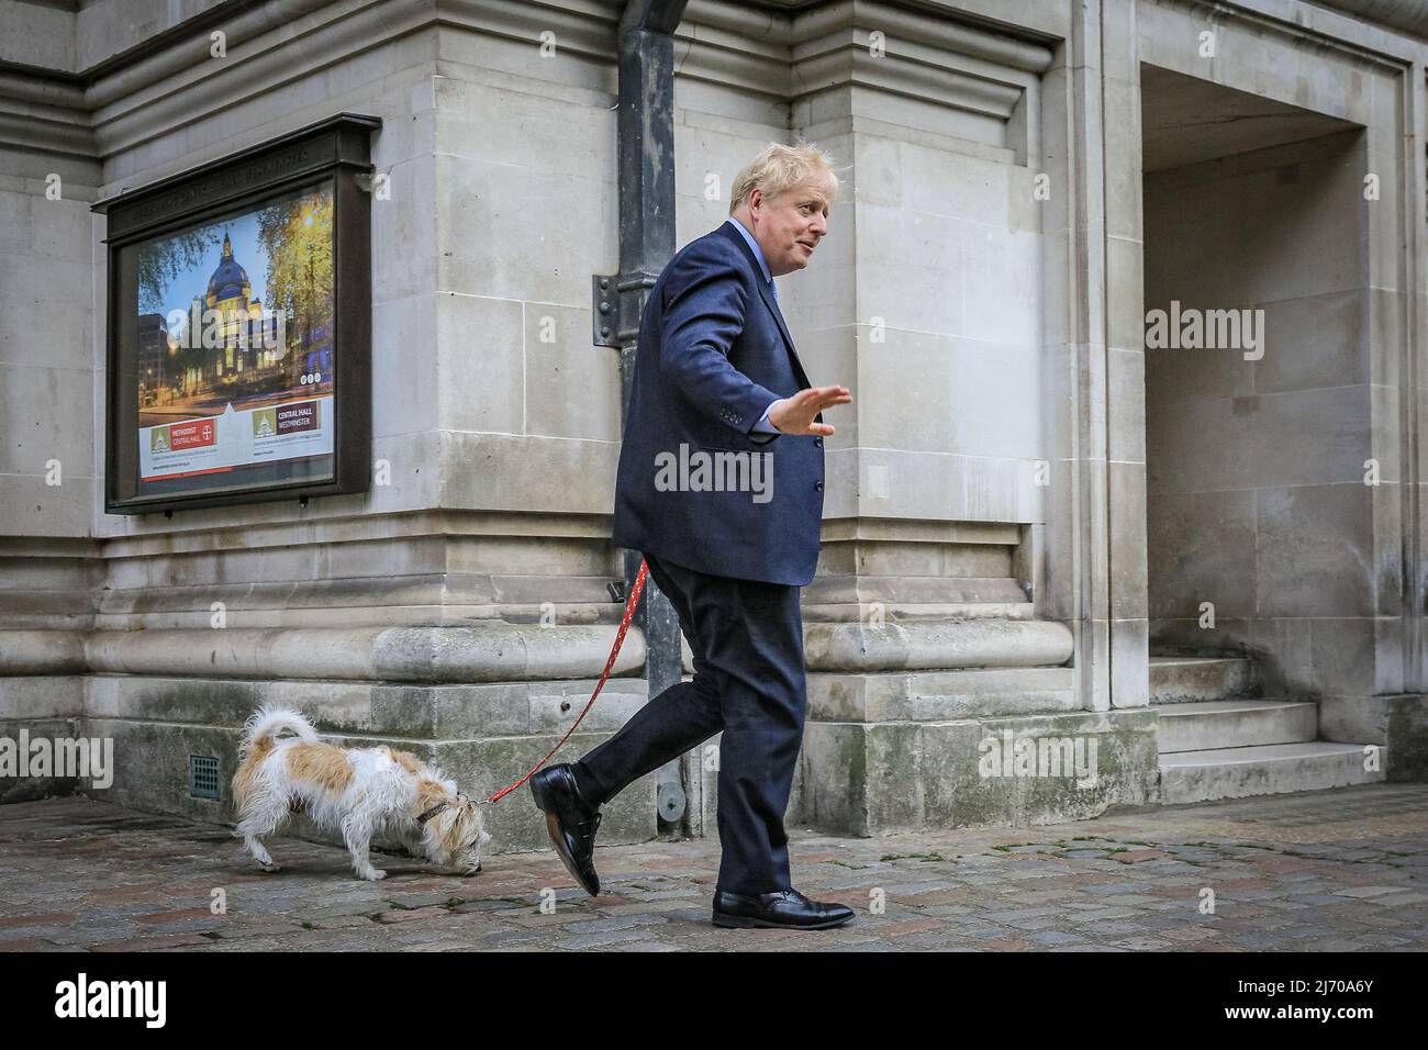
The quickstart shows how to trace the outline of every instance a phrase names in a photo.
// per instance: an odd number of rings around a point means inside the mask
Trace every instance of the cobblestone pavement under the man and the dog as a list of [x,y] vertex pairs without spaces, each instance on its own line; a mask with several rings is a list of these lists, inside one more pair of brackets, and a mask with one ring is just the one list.
[[[714,840],[597,849],[598,897],[574,889],[550,851],[491,856],[471,879],[386,856],[390,876],[363,883],[338,847],[270,846],[284,869],[264,876],[224,827],[86,799],[0,806],[0,950],[1428,947],[1424,784],[1030,829],[791,830],[794,884],[858,913],[821,931],[714,927]],[[210,907],[214,890],[224,914]]]

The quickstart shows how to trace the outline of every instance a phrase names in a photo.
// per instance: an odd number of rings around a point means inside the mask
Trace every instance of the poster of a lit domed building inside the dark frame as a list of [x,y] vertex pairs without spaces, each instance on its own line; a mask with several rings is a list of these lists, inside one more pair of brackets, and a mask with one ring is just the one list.
[[134,250],[140,480],[330,456],[331,184]]

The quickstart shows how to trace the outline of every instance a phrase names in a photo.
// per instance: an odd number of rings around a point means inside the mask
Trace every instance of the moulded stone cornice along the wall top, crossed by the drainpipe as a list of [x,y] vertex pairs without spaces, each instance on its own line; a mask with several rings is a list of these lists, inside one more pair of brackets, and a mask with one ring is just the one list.
[[[448,27],[615,63],[618,0],[287,0],[218,4],[90,70],[0,64],[0,141],[103,159],[334,66],[373,41]],[[201,23],[201,24],[200,24]],[[221,29],[227,57],[208,54]],[[885,54],[870,54],[870,34]],[[990,31],[925,7],[844,0],[787,13],[695,0],[675,33],[678,76],[797,100],[850,83],[1005,120],[1045,40]],[[434,56],[436,57],[436,56]]]

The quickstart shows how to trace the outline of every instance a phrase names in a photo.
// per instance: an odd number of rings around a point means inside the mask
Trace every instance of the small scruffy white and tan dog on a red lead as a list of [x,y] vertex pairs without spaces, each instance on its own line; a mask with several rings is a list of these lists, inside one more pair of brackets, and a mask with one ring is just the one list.
[[[278,740],[283,730],[294,736]],[[397,837],[413,856],[426,856],[458,874],[481,870],[481,847],[491,840],[474,801],[456,781],[410,751],[348,749],[317,739],[311,723],[288,707],[254,711],[243,726],[233,797],[248,853],[264,871],[278,866],[263,847],[287,817],[304,810],[317,824],[341,827],[361,879],[384,879],[367,850],[373,834]]]

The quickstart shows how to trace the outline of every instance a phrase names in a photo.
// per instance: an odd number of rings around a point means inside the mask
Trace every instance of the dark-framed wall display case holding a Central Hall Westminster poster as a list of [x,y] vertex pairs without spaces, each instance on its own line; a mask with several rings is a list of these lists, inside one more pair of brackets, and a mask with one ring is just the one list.
[[106,511],[367,490],[377,127],[343,113],[94,206]]

